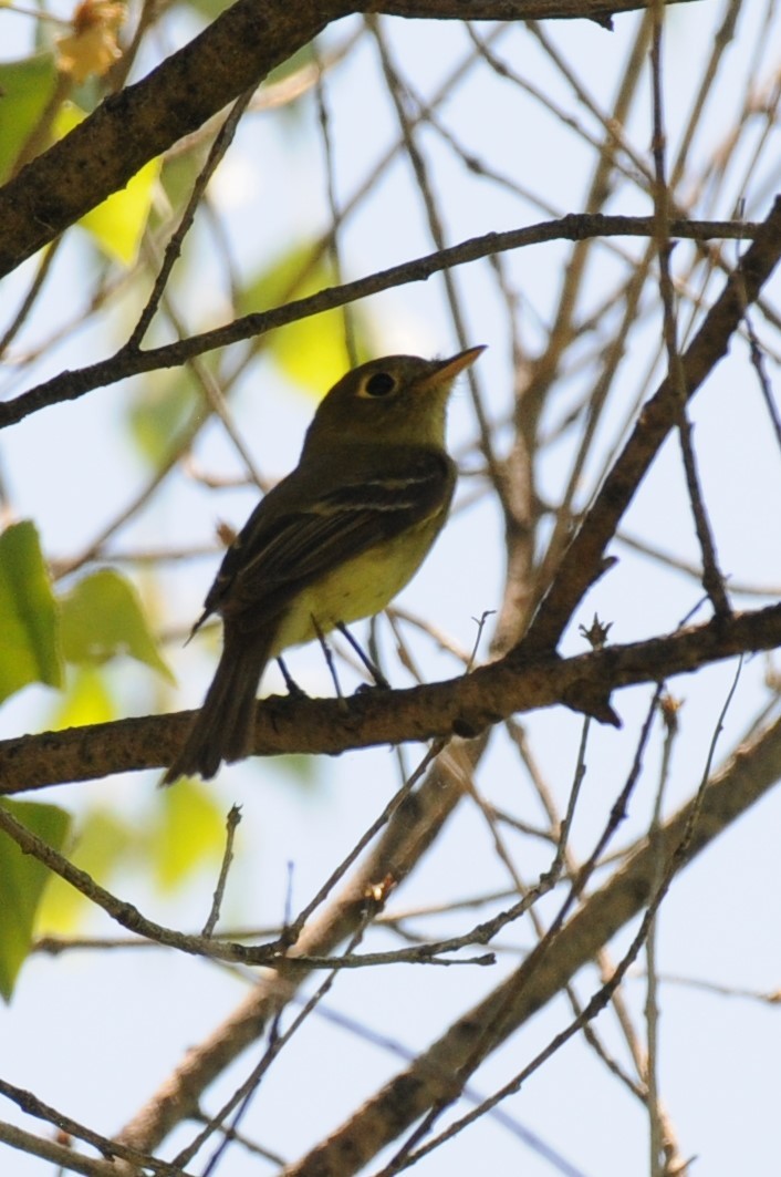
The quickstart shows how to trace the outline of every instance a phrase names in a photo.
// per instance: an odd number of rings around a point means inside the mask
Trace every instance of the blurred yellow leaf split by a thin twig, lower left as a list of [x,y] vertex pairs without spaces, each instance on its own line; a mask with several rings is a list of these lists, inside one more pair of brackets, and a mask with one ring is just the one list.
[[[68,857],[74,866],[105,885],[109,875],[133,857],[135,843],[136,833],[132,826],[115,813],[95,809],[79,819],[75,845]],[[80,891],[53,875],[38,911],[35,931],[39,936],[72,933],[91,907],[92,904]]]

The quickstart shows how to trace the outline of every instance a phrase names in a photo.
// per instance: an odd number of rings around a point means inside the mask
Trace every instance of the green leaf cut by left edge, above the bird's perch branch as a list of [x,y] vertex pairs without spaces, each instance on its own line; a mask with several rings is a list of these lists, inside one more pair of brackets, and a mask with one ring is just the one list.
[[0,701],[28,683],[62,685],[56,601],[29,521],[0,536]]

